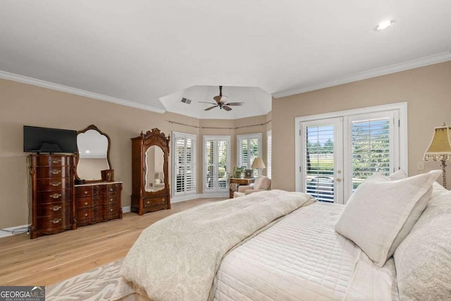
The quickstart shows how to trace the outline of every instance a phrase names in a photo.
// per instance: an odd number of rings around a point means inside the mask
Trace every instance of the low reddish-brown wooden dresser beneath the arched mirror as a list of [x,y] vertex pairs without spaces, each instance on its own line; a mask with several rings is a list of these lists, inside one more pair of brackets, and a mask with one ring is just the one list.
[[122,182],[75,185],[77,226],[122,219]]

